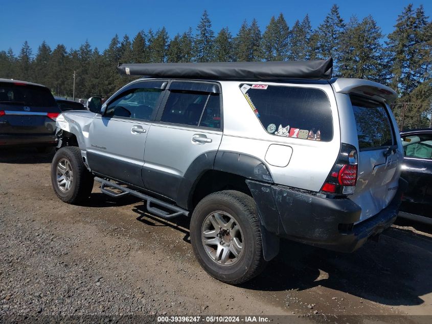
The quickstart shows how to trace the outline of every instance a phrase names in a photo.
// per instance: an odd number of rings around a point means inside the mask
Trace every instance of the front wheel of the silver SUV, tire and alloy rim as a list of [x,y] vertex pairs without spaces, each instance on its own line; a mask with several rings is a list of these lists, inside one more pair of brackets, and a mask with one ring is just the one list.
[[94,177],[85,167],[79,147],[60,148],[51,164],[51,182],[62,201],[77,204],[90,196]]

